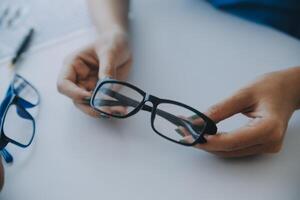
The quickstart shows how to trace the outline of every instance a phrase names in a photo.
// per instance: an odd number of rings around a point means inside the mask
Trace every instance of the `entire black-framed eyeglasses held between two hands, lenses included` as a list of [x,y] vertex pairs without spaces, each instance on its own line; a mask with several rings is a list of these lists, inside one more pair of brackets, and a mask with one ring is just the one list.
[[[152,106],[146,102],[151,102]],[[204,134],[217,132],[216,124],[196,109],[160,99],[134,85],[110,78],[98,82],[90,105],[115,118],[127,118],[140,110],[151,112],[152,129],[163,138],[185,146],[205,143]]]

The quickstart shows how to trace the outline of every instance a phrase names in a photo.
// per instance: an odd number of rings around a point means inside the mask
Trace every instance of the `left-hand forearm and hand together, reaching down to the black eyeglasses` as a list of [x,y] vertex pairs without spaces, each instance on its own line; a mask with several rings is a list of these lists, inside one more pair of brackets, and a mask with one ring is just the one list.
[[129,0],[88,0],[97,40],[66,59],[57,81],[58,91],[77,108],[93,117],[100,117],[85,100],[90,98],[98,79],[105,76],[125,80],[132,55],[128,39]]

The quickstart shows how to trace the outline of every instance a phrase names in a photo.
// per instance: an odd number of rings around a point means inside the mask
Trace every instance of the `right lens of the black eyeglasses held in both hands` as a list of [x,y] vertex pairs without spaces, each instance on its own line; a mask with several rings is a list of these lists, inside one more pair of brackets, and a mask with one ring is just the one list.
[[174,141],[192,144],[201,136],[205,121],[187,108],[162,103],[157,106],[154,128]]

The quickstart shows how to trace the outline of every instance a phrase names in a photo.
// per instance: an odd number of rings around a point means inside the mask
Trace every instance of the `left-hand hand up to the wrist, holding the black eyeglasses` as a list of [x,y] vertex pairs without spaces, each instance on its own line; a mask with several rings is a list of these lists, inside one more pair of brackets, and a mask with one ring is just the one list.
[[128,36],[122,31],[103,33],[95,44],[67,59],[58,81],[58,91],[70,97],[84,113],[99,117],[88,105],[99,78],[125,80],[132,63]]

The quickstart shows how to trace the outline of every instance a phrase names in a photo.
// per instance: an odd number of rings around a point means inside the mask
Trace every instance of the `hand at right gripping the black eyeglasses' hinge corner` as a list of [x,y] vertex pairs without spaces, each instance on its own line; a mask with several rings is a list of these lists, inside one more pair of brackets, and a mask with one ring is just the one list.
[[207,143],[196,147],[221,157],[277,153],[299,105],[300,68],[269,73],[207,112],[215,122],[242,113],[249,123],[230,133],[206,135]]

